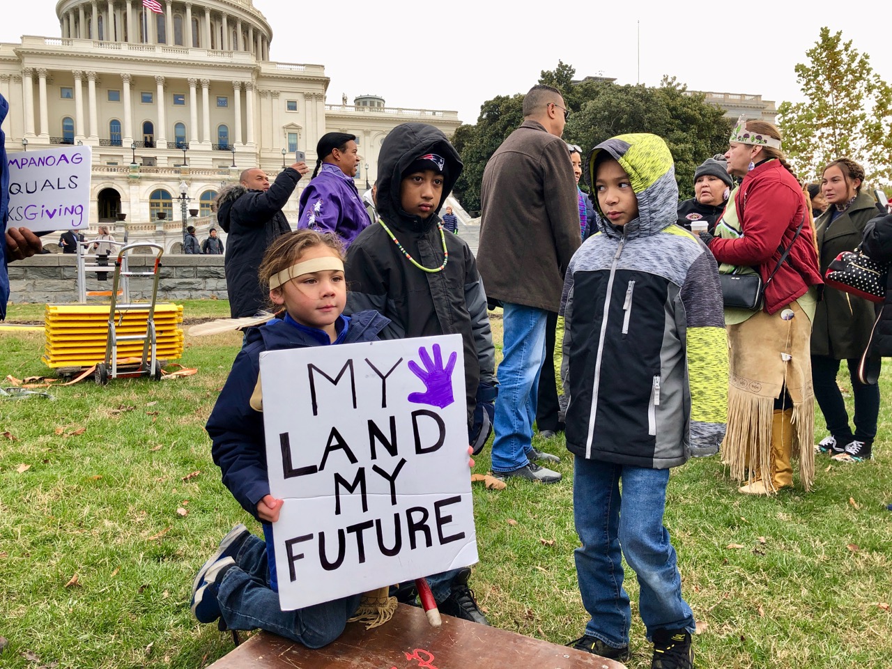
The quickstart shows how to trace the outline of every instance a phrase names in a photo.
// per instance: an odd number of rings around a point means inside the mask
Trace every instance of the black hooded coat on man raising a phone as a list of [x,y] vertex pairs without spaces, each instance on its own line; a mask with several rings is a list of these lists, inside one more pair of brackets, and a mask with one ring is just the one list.
[[269,244],[291,232],[282,208],[300,179],[296,169],[285,168],[266,192],[236,184],[219,194],[217,221],[229,235],[225,268],[232,318],[253,316],[267,303],[257,269]]

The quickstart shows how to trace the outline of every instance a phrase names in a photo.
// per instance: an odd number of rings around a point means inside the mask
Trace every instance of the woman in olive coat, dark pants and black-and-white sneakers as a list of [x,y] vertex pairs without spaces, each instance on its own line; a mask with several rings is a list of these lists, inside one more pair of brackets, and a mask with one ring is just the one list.
[[[853,251],[867,222],[876,216],[873,198],[861,192],[864,169],[841,158],[824,168],[822,193],[830,206],[815,221],[821,274],[839,253]],[[858,362],[867,348],[876,316],[873,304],[850,293],[824,287],[812,326],[812,380],[827,430],[817,447],[836,459],[861,461],[871,457],[880,412],[880,386],[858,381]],[[846,404],[836,382],[839,363],[846,360],[855,395],[855,431],[849,426]]]

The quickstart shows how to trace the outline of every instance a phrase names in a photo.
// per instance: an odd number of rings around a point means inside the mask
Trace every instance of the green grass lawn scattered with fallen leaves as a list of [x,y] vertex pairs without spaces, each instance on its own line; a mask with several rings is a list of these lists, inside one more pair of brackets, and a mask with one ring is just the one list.
[[[43,309],[11,305],[8,318],[39,320]],[[186,302],[186,318],[227,315],[226,301]],[[498,318],[493,330],[500,349]],[[215,625],[194,621],[188,600],[195,571],[233,524],[260,529],[220,483],[203,430],[240,342],[235,333],[187,337],[180,362],[195,376],[0,400],[4,669],[192,669],[232,648]],[[42,334],[0,331],[0,377],[47,374],[42,350]],[[892,397],[889,368],[880,384]],[[890,421],[886,401],[871,462],[819,456],[809,493],[739,495],[718,458],[673,470],[665,524],[704,628],[698,667],[892,665]],[[564,481],[475,488],[481,563],[472,585],[492,624],[565,643],[587,619],[574,570],[572,458],[562,436],[536,445],[564,458]],[[487,453],[476,472],[487,471]],[[627,576],[628,666],[642,669],[651,647]]]

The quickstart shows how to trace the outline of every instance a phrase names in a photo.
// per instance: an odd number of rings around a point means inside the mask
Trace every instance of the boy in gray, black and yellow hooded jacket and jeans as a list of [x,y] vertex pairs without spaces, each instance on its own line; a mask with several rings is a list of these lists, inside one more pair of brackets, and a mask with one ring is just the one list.
[[[589,156],[601,221],[567,269],[566,444],[575,458],[576,573],[591,614],[575,648],[624,659],[631,611],[620,550],[640,583],[654,669],[690,669],[694,617],[663,525],[669,467],[713,455],[725,432],[728,344],[712,255],[675,225],[665,142],[617,136]],[[623,490],[620,495],[619,483]]]

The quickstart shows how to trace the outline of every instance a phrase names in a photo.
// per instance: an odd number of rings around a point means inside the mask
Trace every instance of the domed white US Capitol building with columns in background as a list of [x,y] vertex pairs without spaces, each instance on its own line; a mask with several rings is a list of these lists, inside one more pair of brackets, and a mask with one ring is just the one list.
[[[180,252],[184,209],[203,239],[213,198],[242,169],[272,180],[296,150],[312,168],[318,138],[348,132],[361,194],[392,128],[421,121],[451,136],[460,124],[456,111],[390,108],[377,95],[326,104],[325,66],[270,61],[273,31],[252,0],[160,4],[60,0],[62,37],[0,43],[6,150],[91,146],[91,234],[101,223],[120,241],[126,228],[130,241]],[[285,208],[292,225],[308,182]]]

